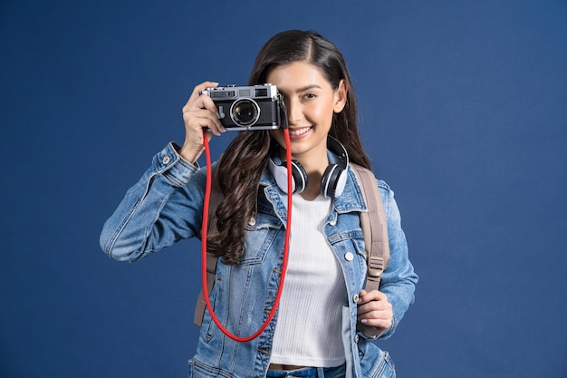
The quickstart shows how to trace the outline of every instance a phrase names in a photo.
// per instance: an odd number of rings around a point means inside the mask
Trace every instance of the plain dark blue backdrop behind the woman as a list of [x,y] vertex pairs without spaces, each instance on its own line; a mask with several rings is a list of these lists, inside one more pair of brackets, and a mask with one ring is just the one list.
[[[399,377],[567,376],[567,2],[6,1],[0,376],[182,377],[199,243],[135,264],[98,237],[206,80],[314,29],[351,68],[417,302]],[[230,135],[213,141],[213,156]]]

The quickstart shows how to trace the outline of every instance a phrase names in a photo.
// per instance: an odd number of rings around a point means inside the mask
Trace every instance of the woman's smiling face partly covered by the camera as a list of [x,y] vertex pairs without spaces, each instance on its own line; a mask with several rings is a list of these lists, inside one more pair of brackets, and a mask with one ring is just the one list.
[[[303,166],[320,162],[327,165],[327,134],[332,117],[346,103],[344,81],[333,89],[321,70],[311,63],[293,62],[278,65],[266,77],[277,86],[287,108],[293,159]],[[276,141],[285,148],[282,130],[273,131]]]

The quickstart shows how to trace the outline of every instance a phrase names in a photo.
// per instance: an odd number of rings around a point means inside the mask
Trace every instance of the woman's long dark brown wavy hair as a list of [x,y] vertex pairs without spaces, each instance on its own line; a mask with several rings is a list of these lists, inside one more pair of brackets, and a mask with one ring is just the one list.
[[[266,82],[274,67],[293,62],[319,67],[334,90],[341,80],[345,81],[347,102],[340,113],[333,115],[329,134],[341,141],[352,162],[370,169],[370,160],[360,141],[356,101],[347,65],[339,49],[322,35],[300,30],[275,34],[256,56],[248,85]],[[216,208],[219,231],[207,237],[207,249],[209,253],[223,257],[222,262],[226,265],[236,264],[242,256],[245,228],[255,215],[260,178],[273,143],[270,131],[241,131],[218,161],[216,178],[224,199]]]

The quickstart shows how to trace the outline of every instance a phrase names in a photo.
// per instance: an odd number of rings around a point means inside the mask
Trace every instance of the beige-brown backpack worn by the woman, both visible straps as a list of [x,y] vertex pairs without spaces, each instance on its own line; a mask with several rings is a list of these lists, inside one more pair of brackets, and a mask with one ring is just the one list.
[[[382,272],[388,266],[388,226],[386,224],[384,205],[382,204],[380,191],[376,185],[374,174],[371,170],[367,170],[358,164],[350,163],[350,165],[359,180],[362,195],[368,208],[368,211],[361,211],[359,213],[360,228],[362,228],[362,232],[364,233],[364,246],[366,247],[368,275],[366,276],[365,290],[368,292],[378,289]],[[223,199],[223,194],[214,178],[212,180],[208,210],[209,229],[216,229],[215,213],[221,199]],[[205,243],[206,240],[202,240],[202,242]],[[215,283],[216,259],[217,257],[207,254],[207,287],[209,290]],[[203,315],[205,315],[206,307],[203,290],[201,290],[197,298],[195,318],[193,320],[198,326],[203,323]]]

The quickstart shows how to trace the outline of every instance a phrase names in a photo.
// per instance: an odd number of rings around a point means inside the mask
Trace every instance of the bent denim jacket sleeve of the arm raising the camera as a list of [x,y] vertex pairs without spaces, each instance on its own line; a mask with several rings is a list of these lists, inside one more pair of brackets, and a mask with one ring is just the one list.
[[205,171],[183,160],[169,143],[104,223],[102,250],[113,259],[135,261],[180,239],[199,237],[205,183]]

